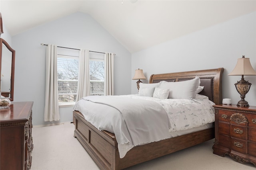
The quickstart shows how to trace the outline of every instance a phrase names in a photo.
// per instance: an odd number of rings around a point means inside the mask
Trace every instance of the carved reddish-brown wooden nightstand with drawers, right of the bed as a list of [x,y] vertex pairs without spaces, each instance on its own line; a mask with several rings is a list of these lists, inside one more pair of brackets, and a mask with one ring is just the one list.
[[256,166],[256,107],[214,105],[213,153]]

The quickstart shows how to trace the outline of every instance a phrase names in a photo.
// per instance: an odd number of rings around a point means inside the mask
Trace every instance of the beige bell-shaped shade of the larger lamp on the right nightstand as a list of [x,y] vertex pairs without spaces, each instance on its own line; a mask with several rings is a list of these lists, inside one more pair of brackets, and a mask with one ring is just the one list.
[[252,65],[250,63],[249,58],[240,58],[237,59],[236,66],[234,70],[228,74],[228,76],[240,76],[240,75],[245,75],[245,76],[253,76],[256,75],[256,72],[252,68]]

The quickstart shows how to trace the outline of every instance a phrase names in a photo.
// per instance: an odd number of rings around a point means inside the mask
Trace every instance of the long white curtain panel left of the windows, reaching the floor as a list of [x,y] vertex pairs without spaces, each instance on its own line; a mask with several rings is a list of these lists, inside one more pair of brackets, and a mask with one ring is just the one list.
[[46,48],[45,77],[44,121],[58,121],[60,114],[58,104],[57,45],[49,44]]

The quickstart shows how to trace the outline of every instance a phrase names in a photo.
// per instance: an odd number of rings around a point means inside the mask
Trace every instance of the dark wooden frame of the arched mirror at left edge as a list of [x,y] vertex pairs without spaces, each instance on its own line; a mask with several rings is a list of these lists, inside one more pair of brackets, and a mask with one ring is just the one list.
[[[13,101],[13,96],[14,96],[14,66],[15,66],[15,50],[10,47],[10,45],[2,38],[0,38],[0,75],[1,74],[1,69],[2,69],[2,47],[3,44],[7,47],[9,51],[12,52],[12,69],[11,69],[11,88],[10,88],[10,101]],[[1,76],[0,76],[1,80]]]

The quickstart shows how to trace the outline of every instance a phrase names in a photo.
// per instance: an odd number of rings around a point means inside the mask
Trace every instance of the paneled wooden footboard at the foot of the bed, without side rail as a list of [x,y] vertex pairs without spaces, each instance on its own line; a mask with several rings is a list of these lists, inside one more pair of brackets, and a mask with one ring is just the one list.
[[88,123],[78,111],[73,111],[73,117],[74,137],[83,145],[100,169],[118,169],[115,162],[118,160],[119,153],[114,134],[99,131]]

